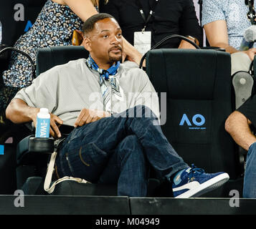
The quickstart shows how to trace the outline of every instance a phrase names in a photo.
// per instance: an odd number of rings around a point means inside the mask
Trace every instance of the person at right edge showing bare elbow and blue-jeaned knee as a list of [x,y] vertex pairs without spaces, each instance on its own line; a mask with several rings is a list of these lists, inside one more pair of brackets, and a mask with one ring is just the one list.
[[243,198],[256,198],[256,95],[247,99],[227,118],[225,128],[242,148],[247,150]]

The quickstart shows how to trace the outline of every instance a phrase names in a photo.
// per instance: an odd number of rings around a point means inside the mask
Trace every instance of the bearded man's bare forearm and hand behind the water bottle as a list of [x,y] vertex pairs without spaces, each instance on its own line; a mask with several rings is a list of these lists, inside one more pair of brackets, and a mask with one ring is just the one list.
[[[39,108],[29,107],[22,99],[12,99],[6,108],[6,118],[14,123],[34,122],[37,126],[37,113]],[[49,134],[52,137],[61,137],[59,127],[57,124],[62,125],[62,120],[56,115],[50,114],[50,130]]]

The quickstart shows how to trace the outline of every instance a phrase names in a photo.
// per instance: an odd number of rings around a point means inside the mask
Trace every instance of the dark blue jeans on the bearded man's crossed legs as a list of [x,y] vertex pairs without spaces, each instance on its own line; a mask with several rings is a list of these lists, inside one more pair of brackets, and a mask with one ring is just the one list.
[[147,194],[149,165],[167,178],[188,167],[161,127],[154,125],[157,117],[148,107],[133,107],[116,116],[70,133],[56,160],[60,177],[118,184],[118,195],[143,197]]

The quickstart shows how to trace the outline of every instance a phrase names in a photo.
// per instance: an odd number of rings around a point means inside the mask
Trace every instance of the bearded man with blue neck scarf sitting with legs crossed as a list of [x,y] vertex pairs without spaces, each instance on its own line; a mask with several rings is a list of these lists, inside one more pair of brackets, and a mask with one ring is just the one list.
[[88,59],[78,59],[39,75],[6,109],[15,123],[36,122],[40,107],[51,112],[50,134],[59,125],[75,127],[56,159],[57,176],[117,183],[118,195],[147,194],[148,165],[172,184],[174,197],[201,195],[229,179],[186,165],[158,125],[158,97],[143,70],[120,64],[122,31],[109,14],[83,26]]

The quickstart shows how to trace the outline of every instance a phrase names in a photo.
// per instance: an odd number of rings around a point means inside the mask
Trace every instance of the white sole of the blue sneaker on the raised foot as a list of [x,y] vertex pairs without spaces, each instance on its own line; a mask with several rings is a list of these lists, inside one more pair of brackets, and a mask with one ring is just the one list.
[[176,196],[175,198],[196,198],[199,195],[203,195],[204,193],[208,193],[209,191],[212,191],[217,187],[222,186],[228,180],[229,175],[227,173],[222,173],[216,177],[213,177],[210,180],[207,180],[198,187],[188,190],[185,193]]

